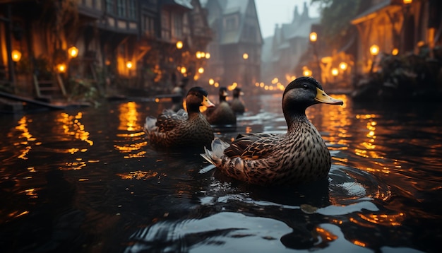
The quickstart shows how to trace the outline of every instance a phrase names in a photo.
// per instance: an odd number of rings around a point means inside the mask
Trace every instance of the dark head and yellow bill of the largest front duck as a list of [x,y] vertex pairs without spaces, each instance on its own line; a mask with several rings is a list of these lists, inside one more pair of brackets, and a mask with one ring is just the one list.
[[302,76],[289,83],[282,95],[282,111],[287,116],[305,114],[307,107],[319,103],[343,105],[342,100],[330,97],[325,93],[316,79]]

